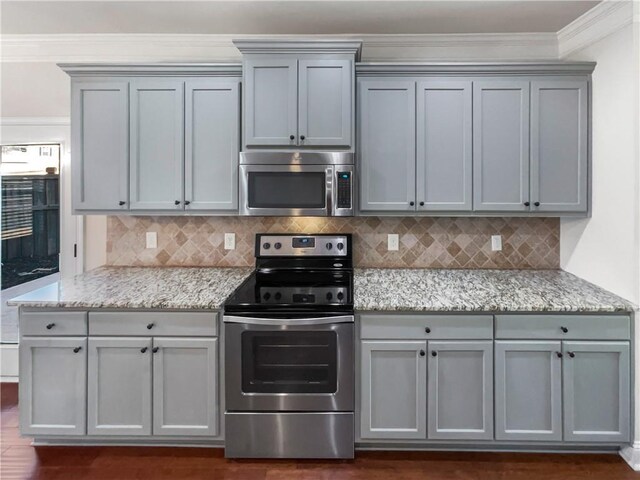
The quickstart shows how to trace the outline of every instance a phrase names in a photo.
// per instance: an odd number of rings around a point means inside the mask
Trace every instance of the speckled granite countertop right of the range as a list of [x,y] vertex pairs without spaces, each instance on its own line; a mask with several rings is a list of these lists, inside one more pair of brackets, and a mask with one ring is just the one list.
[[561,270],[356,269],[356,311],[629,312],[626,300]]

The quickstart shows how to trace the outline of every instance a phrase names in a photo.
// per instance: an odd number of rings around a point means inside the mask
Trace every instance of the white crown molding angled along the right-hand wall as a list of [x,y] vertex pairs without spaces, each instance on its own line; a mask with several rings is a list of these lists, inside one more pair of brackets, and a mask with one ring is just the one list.
[[558,31],[558,54],[572,53],[630,25],[635,16],[633,0],[605,0]]

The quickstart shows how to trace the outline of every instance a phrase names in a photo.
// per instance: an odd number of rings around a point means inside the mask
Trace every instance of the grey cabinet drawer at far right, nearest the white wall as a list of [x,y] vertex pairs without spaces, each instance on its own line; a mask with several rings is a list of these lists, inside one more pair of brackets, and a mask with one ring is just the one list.
[[496,315],[496,338],[628,340],[624,315]]

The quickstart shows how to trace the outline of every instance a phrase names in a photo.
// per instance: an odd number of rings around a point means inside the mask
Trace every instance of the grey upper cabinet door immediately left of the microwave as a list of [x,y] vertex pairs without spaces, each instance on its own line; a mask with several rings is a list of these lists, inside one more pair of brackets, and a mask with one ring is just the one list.
[[238,209],[239,82],[185,85],[185,209]]

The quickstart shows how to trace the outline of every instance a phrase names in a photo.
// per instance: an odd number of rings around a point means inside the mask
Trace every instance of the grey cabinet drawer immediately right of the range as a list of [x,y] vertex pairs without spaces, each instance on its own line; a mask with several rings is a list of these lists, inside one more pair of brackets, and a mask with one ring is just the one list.
[[492,315],[360,315],[363,339],[492,339]]

